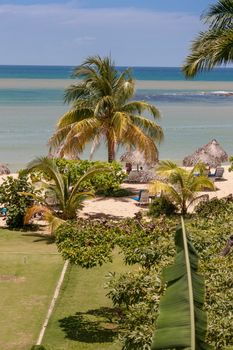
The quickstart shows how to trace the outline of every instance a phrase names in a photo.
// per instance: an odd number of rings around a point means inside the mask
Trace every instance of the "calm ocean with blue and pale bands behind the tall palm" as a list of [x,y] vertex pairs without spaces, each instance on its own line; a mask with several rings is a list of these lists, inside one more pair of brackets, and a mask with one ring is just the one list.
[[[16,171],[48,153],[56,122],[69,109],[63,96],[73,82],[72,70],[70,66],[0,66],[0,163]],[[233,68],[214,69],[191,81],[175,67],[131,70],[135,99],[155,104],[161,111],[158,122],[165,137],[159,145],[160,159],[181,162],[212,138],[233,155]],[[88,155],[87,148],[82,158]],[[94,159],[106,157],[103,145]]]

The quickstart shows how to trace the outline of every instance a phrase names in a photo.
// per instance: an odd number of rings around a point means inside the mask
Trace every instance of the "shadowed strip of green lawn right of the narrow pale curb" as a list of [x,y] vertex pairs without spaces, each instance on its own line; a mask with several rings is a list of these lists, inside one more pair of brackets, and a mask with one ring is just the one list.
[[70,267],[45,334],[46,349],[120,350],[104,284],[109,271],[125,270],[117,254],[112,264],[102,267]]

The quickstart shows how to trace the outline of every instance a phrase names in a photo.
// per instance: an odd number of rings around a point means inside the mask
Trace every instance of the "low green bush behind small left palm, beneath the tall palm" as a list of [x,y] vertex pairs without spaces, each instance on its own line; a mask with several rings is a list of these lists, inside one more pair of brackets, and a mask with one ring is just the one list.
[[[78,179],[83,176],[90,168],[93,167],[108,167],[111,172],[95,174],[91,179],[84,181],[80,187],[82,190],[93,190],[97,193],[111,196],[118,193],[120,185],[126,178],[126,173],[122,169],[122,165],[118,162],[100,162],[89,160],[67,160],[64,158],[56,158],[55,163],[59,169],[59,172],[65,176],[70,177],[71,185],[74,185]],[[34,177],[37,172],[33,173]],[[42,175],[41,173],[39,173]],[[50,180],[50,176],[45,172],[45,177]]]

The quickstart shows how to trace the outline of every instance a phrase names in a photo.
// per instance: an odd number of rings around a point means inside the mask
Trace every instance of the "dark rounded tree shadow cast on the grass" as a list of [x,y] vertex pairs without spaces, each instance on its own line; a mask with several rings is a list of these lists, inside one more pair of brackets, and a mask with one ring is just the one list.
[[117,309],[101,307],[87,312],[77,312],[73,316],[59,320],[66,338],[84,343],[110,343],[118,334]]

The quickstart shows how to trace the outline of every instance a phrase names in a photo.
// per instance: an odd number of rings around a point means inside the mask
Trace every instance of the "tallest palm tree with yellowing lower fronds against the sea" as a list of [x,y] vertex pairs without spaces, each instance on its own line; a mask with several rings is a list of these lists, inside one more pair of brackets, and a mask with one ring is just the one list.
[[149,161],[157,160],[156,142],[162,140],[163,132],[142,114],[159,118],[159,111],[149,103],[132,100],[135,83],[129,70],[120,74],[111,58],[94,56],[77,67],[73,76],[82,80],[65,92],[65,101],[72,102],[72,108],[59,119],[49,141],[50,151],[77,156],[92,142],[92,156],[103,140],[109,162],[115,160],[119,145],[139,149]]

